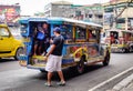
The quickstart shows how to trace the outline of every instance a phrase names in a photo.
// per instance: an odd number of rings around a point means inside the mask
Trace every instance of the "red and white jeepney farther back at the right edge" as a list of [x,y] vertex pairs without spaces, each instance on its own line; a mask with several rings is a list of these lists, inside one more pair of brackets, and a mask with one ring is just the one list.
[[132,52],[133,31],[119,29],[106,30],[105,43],[111,44],[112,52]]

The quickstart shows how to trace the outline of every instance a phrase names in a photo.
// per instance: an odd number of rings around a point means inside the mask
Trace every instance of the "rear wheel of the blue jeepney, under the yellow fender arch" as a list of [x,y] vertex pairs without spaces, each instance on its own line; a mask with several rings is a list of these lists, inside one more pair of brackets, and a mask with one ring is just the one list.
[[85,59],[82,55],[81,60],[78,62],[78,65],[76,65],[76,70],[80,74],[84,72],[84,61],[85,61]]

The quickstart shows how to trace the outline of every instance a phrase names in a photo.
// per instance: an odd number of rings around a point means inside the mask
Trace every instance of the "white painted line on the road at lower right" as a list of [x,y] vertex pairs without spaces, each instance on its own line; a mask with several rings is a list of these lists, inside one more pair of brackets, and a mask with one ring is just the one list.
[[90,89],[89,91],[95,91],[96,89],[100,89],[101,87],[108,84],[108,83],[111,82],[112,80],[115,80],[116,78],[119,78],[119,77],[121,77],[121,75],[123,75],[123,74],[125,74],[126,72],[132,71],[132,70],[133,70],[133,67],[130,68],[130,69],[127,69],[127,70],[125,70],[125,71],[123,71],[123,72],[121,72],[121,73],[119,73],[119,74],[116,74],[116,75],[114,75],[114,77],[112,77],[112,78],[109,79],[109,80],[103,81],[102,83],[95,85],[94,88]]

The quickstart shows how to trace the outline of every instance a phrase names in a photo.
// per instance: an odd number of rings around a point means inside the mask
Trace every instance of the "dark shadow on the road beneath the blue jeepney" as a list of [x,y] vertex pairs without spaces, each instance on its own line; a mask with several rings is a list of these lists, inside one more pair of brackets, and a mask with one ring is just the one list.
[[[70,80],[72,78],[78,78],[78,77],[84,75],[85,73],[89,73],[91,71],[95,71],[100,68],[103,68],[103,65],[94,64],[94,65],[85,67],[84,73],[82,73],[82,74],[79,74],[74,68],[68,68],[68,69],[63,70],[63,74],[64,74],[65,80]],[[32,77],[32,79],[47,80],[47,73],[40,72],[40,74],[38,77]],[[52,80],[53,81],[60,80],[57,72],[53,73]]]

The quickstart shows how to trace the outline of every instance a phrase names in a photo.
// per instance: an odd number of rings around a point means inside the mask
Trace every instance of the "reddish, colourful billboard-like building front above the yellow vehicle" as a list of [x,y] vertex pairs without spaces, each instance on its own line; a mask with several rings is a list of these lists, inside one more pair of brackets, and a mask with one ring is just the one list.
[[17,26],[20,18],[20,6],[17,4],[0,4],[0,22],[8,26]]

